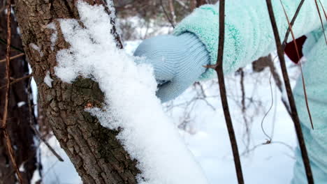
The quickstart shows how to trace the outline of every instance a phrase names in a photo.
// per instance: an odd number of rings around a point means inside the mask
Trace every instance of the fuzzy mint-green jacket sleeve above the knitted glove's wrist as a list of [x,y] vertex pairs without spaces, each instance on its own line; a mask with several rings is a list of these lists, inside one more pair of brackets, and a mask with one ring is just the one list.
[[[282,0],[287,15],[293,17],[300,0]],[[326,5],[327,0],[321,0]],[[280,1],[273,1],[273,9],[283,40],[288,23]],[[226,1],[226,29],[224,72],[234,72],[247,63],[267,56],[275,50],[275,38],[270,24],[266,1],[263,0],[233,0]],[[326,20],[324,20],[326,23]],[[321,26],[317,7],[314,1],[305,1],[298,18],[293,25],[293,32],[298,38],[318,29]],[[194,10],[180,24],[174,34],[176,36],[191,32],[196,34],[204,43],[210,54],[210,63],[217,60],[217,47],[219,36],[219,3],[205,5]],[[291,36],[289,38],[291,40]],[[215,77],[215,71],[208,69],[201,79]]]

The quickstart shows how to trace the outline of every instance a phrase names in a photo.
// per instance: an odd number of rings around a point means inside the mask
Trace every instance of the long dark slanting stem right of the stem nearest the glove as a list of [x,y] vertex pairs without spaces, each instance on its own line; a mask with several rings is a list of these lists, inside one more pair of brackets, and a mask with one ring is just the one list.
[[277,23],[276,23],[274,11],[273,11],[273,5],[271,3],[271,0],[266,0],[266,3],[267,3],[268,13],[269,13],[269,17],[270,17],[270,23],[273,27],[273,32],[274,32],[276,46],[277,46],[277,54],[279,56],[280,66],[282,68],[282,74],[284,77],[286,92],[287,92],[287,96],[289,98],[289,106],[291,107],[292,119],[294,122],[294,126],[296,128],[296,135],[298,136],[298,142],[299,142],[300,150],[302,153],[303,163],[305,165],[305,173],[307,174],[307,181],[308,181],[308,183],[312,184],[312,183],[314,183],[314,179],[313,179],[312,171],[311,171],[311,167],[310,167],[310,160],[309,160],[309,156],[307,155],[307,148],[305,147],[305,141],[303,138],[303,132],[302,132],[301,125],[300,125],[300,119],[298,118],[298,112],[296,110],[296,104],[295,104],[295,101],[293,98],[291,84],[289,82],[289,75],[287,73],[286,63],[285,63],[285,58],[284,58],[284,49],[282,48],[282,43],[279,38]]

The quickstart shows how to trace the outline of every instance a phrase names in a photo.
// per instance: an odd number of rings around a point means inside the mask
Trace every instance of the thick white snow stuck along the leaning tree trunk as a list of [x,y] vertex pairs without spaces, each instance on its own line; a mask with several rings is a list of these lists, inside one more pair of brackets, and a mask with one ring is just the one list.
[[55,74],[64,82],[78,75],[92,77],[105,93],[103,109],[87,109],[107,128],[122,128],[117,138],[142,174],[139,183],[207,183],[201,167],[184,145],[175,125],[155,95],[152,68],[136,66],[117,49],[110,34],[110,16],[103,6],[78,2],[80,21],[60,20],[69,49],[57,53]]

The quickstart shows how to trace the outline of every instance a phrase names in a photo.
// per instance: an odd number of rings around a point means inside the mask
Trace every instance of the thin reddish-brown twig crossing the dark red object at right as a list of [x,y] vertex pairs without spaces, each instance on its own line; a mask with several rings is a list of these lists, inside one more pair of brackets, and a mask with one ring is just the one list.
[[312,126],[312,130],[314,129],[314,125],[313,125],[313,121],[312,121],[312,116],[311,116],[311,112],[310,112],[310,107],[309,107],[309,102],[307,100],[307,88],[305,86],[305,77],[303,75],[303,68],[302,68],[302,61],[300,60],[300,54],[298,52],[298,45],[296,44],[296,38],[294,36],[294,32],[293,32],[293,29],[292,29],[292,25],[291,23],[289,22],[289,16],[287,15],[286,13],[286,10],[284,8],[284,4],[282,2],[282,0],[279,0],[280,3],[282,4],[282,8],[284,10],[284,14],[286,16],[286,20],[287,20],[287,23],[289,24],[289,29],[291,30],[291,36],[293,38],[293,43],[295,45],[295,48],[296,48],[296,54],[298,56],[298,62],[300,63],[300,70],[301,70],[301,79],[302,79],[302,86],[303,86],[303,92],[304,92],[304,95],[305,95],[305,105],[307,107],[307,114],[309,115],[309,118],[310,118],[310,123],[311,123],[311,126]]

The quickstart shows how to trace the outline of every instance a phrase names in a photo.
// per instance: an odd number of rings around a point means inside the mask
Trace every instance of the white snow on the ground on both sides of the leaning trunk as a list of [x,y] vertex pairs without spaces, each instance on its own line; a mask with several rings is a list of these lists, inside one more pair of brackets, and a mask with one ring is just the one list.
[[[126,42],[127,52],[131,53],[138,43],[137,41]],[[276,63],[276,66],[279,67],[278,63]],[[296,75],[297,71],[298,69],[293,67],[290,71],[291,76]],[[286,143],[291,148],[284,144],[262,145],[266,142],[267,137],[261,130],[261,121],[272,102],[269,84],[270,72],[265,70],[259,74],[247,74],[249,72],[251,72],[251,68],[245,68],[245,93],[248,98],[254,97],[254,100],[261,100],[263,108],[260,111],[257,111],[255,105],[250,105],[247,108],[248,114],[256,114],[256,116],[252,121],[250,151],[241,157],[245,183],[289,183],[293,175],[292,170],[295,162],[293,148],[296,146],[296,136],[291,118],[284,109],[280,100],[281,95],[277,91],[273,79],[271,79],[273,108],[263,122],[263,128],[270,136],[272,135],[271,132],[273,132],[273,141]],[[237,75],[227,76],[231,115],[240,153],[243,153],[246,149],[243,140],[245,125],[240,109],[239,79],[240,76]],[[293,83],[294,81],[293,79]],[[204,82],[203,86],[206,95],[219,95],[218,85],[215,84],[215,81]],[[194,88],[188,89],[173,101],[173,104],[177,106],[170,109],[167,114],[172,116],[176,125],[180,125],[181,121],[188,122],[187,131],[180,130],[180,135],[184,138],[187,147],[194,154],[196,160],[201,164],[210,183],[237,183],[220,99],[217,97],[208,98],[208,102],[215,109],[207,105],[203,100],[198,100],[192,103],[191,107],[187,107],[189,113],[185,116],[185,106],[180,104],[194,98],[194,93]],[[249,100],[246,102],[249,104]],[[73,164],[71,164],[64,151],[61,150],[55,137],[50,139],[50,144],[57,149],[65,162],[57,161],[48,151],[48,148],[41,144],[43,183],[81,183]],[[254,146],[256,148],[252,149]]]

